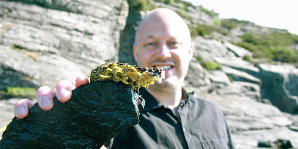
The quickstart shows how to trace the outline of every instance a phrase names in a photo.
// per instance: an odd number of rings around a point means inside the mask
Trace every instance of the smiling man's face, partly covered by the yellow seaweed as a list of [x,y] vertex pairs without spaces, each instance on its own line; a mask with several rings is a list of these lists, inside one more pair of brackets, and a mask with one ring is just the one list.
[[152,17],[146,20],[136,37],[137,45],[133,47],[139,66],[163,68],[165,79],[154,84],[163,87],[181,85],[193,53],[187,28],[183,29],[185,26],[173,19]]

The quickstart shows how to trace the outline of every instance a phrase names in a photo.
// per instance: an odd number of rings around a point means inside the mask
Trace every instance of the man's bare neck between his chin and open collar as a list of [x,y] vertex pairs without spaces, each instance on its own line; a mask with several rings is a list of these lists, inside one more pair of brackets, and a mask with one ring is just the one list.
[[151,85],[146,89],[159,103],[167,105],[170,109],[178,107],[182,99],[182,86],[165,88]]

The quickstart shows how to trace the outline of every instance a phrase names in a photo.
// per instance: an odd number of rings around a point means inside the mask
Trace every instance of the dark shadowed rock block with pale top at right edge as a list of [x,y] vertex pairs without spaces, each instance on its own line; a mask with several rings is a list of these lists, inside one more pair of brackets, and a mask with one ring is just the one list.
[[298,69],[292,65],[261,64],[261,93],[284,112],[298,113]]

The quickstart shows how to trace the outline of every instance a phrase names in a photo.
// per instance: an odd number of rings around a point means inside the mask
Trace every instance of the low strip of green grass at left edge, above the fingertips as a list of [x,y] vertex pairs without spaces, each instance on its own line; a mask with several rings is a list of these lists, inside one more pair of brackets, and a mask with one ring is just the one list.
[[0,91],[0,99],[2,98],[27,98],[34,99],[36,95],[35,88],[29,87],[8,87],[4,91]]

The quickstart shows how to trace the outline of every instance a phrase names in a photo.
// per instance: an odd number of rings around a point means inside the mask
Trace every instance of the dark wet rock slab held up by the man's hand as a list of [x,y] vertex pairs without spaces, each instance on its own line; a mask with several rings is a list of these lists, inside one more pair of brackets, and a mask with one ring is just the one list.
[[100,148],[118,132],[139,123],[145,101],[115,81],[91,82],[72,91],[68,102],[54,96],[54,107],[37,103],[24,119],[14,117],[0,148]]

